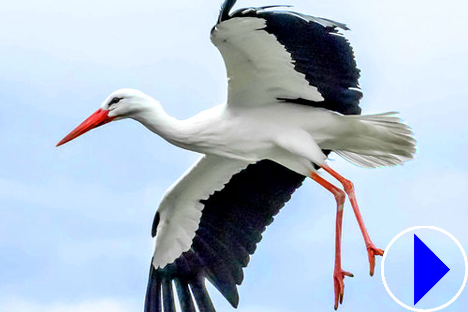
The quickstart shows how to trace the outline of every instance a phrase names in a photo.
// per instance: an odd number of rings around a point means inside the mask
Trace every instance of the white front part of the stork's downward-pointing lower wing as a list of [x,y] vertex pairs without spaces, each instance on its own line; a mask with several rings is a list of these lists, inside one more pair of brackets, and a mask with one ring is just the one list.
[[198,229],[204,205],[231,177],[249,163],[215,155],[201,156],[166,191],[153,223],[156,247],[153,266],[163,268],[190,249]]

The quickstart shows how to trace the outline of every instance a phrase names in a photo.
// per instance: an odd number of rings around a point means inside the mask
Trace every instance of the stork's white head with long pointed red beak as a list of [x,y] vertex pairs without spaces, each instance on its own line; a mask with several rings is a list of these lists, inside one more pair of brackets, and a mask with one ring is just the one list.
[[81,136],[82,134],[106,124],[112,120],[132,117],[147,105],[148,96],[135,89],[119,89],[112,92],[100,105],[100,108],[71,131],[57,146]]

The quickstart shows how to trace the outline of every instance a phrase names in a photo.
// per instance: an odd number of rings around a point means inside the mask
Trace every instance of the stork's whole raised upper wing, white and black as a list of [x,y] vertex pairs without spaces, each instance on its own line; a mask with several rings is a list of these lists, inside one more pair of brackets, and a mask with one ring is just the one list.
[[353,50],[329,19],[268,7],[229,13],[235,0],[221,7],[211,40],[228,74],[229,105],[264,105],[276,101],[360,114],[359,69]]

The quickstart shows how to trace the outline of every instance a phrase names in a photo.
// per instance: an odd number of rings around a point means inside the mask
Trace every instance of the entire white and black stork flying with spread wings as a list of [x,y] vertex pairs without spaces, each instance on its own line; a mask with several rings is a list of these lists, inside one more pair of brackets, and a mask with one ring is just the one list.
[[[211,41],[221,52],[228,99],[177,120],[152,97],[120,89],[58,144],[112,120],[132,118],[168,142],[202,156],[165,193],[154,218],[156,247],[145,312],[173,312],[175,285],[183,312],[215,309],[207,278],[237,307],[236,285],[273,216],[310,177],[336,201],[334,309],[343,299],[340,242],[346,195],[361,228],[370,266],[382,255],[371,242],[351,181],[327,165],[335,152],[361,167],[412,159],[410,128],[389,112],[360,115],[362,92],[341,23],[274,6],[230,12],[226,0]],[[342,185],[319,175],[322,169]]]

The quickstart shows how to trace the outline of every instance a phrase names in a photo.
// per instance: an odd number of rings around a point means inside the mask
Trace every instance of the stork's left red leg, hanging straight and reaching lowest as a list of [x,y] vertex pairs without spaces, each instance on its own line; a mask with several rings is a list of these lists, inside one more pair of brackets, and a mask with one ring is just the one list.
[[325,180],[323,177],[317,173],[311,172],[310,177],[317,181],[320,185],[325,187],[327,190],[332,192],[336,200],[336,225],[335,225],[335,265],[333,273],[333,282],[334,282],[334,309],[338,309],[339,303],[343,303],[343,294],[344,294],[344,282],[343,279],[345,276],[353,277],[349,272],[343,271],[341,269],[341,225],[343,221],[343,204],[346,198],[346,195],[342,190],[334,186],[332,183]]

